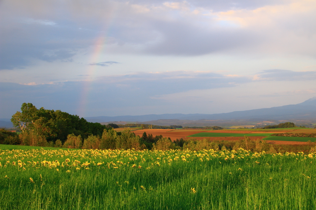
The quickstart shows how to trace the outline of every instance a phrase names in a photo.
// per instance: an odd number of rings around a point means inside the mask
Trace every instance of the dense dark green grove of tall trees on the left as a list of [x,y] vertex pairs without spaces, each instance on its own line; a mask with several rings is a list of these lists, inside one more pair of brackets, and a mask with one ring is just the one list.
[[51,141],[58,139],[64,143],[69,134],[81,136],[83,139],[89,135],[102,135],[106,125],[87,122],[84,118],[71,115],[60,110],[48,110],[43,107],[37,109],[32,103],[23,103],[21,112],[16,112],[11,122],[22,131],[21,140]]

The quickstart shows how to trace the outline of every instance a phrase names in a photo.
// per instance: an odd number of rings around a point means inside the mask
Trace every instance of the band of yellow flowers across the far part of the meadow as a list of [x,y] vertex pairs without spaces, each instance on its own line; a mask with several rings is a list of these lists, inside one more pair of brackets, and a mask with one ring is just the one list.
[[[16,167],[23,170],[40,170],[41,168],[54,169],[55,172],[76,172],[80,169],[86,170],[151,170],[155,167],[173,164],[188,164],[196,161],[207,164],[208,161],[216,158],[217,164],[228,162],[235,164],[238,160],[247,160],[247,167],[257,166],[263,158],[268,155],[265,152],[252,153],[250,151],[224,150],[216,151],[200,150],[0,150],[0,168]],[[277,153],[273,157],[294,158],[298,161],[310,160],[315,154],[305,155],[303,152]],[[21,170],[21,171],[23,171]],[[242,171],[242,168],[238,169]]]

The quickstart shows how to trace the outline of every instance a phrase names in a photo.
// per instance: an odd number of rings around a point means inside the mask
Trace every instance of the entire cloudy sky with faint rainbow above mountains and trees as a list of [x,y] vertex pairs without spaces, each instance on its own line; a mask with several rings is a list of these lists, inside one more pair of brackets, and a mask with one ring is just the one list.
[[314,0],[1,0],[0,118],[216,114],[316,96]]

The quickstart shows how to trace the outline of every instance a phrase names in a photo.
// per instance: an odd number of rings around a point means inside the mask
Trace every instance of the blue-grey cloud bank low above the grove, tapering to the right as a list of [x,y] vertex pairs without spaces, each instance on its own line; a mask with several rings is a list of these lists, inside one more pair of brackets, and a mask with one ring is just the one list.
[[[14,114],[23,102],[37,107],[61,109],[78,114],[82,101],[96,114],[101,109],[156,106],[153,96],[197,89],[234,87],[252,82],[251,78],[232,78],[213,72],[134,73],[106,76],[94,81],[69,81],[57,84],[20,85],[0,83],[1,110]],[[88,95],[84,92],[89,90]],[[180,106],[179,101],[179,106]],[[8,116],[7,116],[8,117]]]

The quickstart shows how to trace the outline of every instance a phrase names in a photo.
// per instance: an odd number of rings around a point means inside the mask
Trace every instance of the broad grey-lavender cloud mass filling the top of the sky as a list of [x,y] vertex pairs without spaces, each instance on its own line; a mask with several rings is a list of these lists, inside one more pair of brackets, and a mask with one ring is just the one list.
[[[5,1],[0,8],[0,69],[23,68],[35,62],[32,59],[70,62],[74,55],[88,51],[100,37],[106,39],[104,44],[108,45],[109,53],[194,56],[215,52],[234,55],[276,52],[316,56],[315,23],[306,21],[315,19],[313,7],[306,12],[297,10],[295,14],[276,9],[273,16],[264,9],[248,14],[247,9],[286,6],[289,2],[179,1],[187,10],[171,9],[163,3],[166,2]],[[195,9],[201,10],[199,15],[193,15]],[[239,16],[219,20],[220,13],[214,13],[230,9],[239,9],[236,12]],[[267,22],[266,14],[271,15]],[[244,17],[249,25],[234,22]]]

